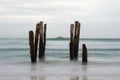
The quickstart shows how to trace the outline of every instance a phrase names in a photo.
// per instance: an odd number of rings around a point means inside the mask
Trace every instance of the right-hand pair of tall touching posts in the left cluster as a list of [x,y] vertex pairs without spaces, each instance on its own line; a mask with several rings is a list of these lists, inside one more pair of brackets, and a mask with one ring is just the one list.
[[46,46],[46,24],[40,22],[39,59],[44,59]]

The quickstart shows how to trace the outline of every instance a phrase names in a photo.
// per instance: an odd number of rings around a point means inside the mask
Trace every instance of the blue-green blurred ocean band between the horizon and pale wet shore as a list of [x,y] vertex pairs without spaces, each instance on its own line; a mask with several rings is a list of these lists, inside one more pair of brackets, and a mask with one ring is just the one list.
[[[69,39],[48,38],[46,61],[69,61]],[[120,63],[120,39],[81,38],[79,59],[82,58],[82,44],[88,49],[88,62]],[[0,63],[30,62],[29,40],[27,38],[0,38]]]

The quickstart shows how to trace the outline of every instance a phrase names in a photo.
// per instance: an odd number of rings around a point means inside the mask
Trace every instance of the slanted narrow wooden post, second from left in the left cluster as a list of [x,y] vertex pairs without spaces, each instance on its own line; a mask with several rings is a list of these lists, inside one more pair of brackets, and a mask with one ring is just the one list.
[[36,32],[35,32],[35,57],[37,59],[37,48],[38,48],[38,39],[39,39],[39,32],[40,32],[40,24],[36,25]]

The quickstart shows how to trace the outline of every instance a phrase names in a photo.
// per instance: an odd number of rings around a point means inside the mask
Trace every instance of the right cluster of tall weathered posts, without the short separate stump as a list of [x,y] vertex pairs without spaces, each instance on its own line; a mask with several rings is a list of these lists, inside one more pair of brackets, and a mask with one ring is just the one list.
[[78,59],[78,50],[79,50],[79,36],[80,36],[80,23],[75,21],[74,24],[71,24],[70,27],[70,60]]

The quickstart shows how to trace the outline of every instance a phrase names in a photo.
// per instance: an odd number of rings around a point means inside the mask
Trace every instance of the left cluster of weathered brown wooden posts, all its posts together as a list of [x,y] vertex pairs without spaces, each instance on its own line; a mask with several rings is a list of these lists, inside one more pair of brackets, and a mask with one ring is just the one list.
[[35,63],[37,61],[38,41],[39,41],[39,58],[40,59],[44,58],[46,46],[46,28],[47,24],[44,24],[43,26],[43,21],[36,24],[35,41],[33,31],[29,31],[30,57],[32,63]]

